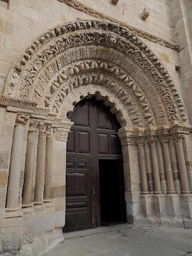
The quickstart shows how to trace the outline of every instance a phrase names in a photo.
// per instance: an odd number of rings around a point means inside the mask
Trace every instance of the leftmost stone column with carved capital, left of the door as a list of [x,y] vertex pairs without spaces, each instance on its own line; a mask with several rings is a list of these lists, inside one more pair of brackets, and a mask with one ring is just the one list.
[[9,209],[18,207],[20,168],[23,155],[22,141],[24,138],[24,125],[26,125],[27,120],[28,116],[18,115],[13,132],[12,154],[6,196],[6,208]]

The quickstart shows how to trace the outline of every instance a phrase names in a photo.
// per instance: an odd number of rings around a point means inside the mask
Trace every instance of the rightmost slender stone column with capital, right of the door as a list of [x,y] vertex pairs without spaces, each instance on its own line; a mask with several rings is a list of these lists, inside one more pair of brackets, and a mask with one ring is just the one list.
[[189,180],[188,173],[186,168],[186,159],[184,156],[184,148],[183,148],[183,139],[184,134],[174,134],[173,140],[175,142],[175,148],[177,152],[177,161],[179,165],[179,174],[180,174],[180,183],[181,183],[181,193],[191,193],[189,189]]

